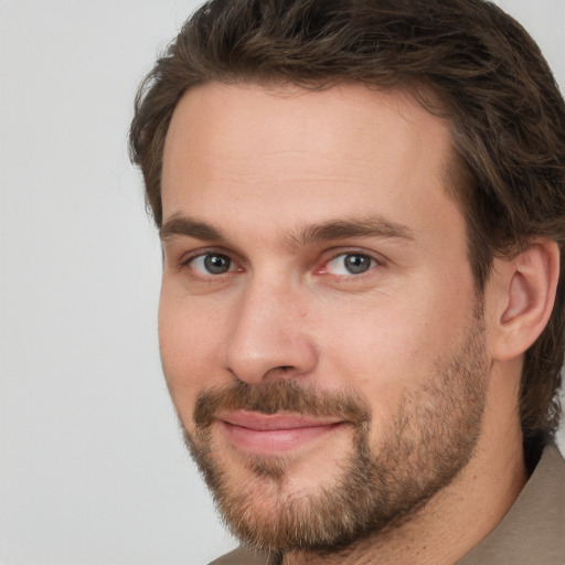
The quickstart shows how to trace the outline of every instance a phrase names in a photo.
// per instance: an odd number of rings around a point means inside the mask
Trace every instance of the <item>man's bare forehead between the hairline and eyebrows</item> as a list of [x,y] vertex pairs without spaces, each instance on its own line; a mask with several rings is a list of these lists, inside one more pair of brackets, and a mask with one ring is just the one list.
[[252,217],[266,201],[275,224],[345,209],[433,217],[445,204],[450,154],[447,124],[406,93],[209,83],[189,90],[173,114],[163,217],[207,215],[211,203],[218,218],[238,203]]

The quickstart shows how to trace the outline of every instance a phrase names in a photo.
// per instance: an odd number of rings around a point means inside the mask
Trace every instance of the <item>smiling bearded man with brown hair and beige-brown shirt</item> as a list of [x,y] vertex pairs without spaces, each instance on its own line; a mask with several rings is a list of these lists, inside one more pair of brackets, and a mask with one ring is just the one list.
[[482,0],[214,0],[140,90],[159,334],[242,548],[565,562],[565,105]]

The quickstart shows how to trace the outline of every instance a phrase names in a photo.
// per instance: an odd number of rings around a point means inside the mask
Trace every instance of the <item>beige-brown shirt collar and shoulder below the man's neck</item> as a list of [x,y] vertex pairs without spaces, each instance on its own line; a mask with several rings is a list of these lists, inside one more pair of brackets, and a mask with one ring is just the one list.
[[[268,565],[237,548],[210,565]],[[565,565],[565,460],[543,450],[532,477],[500,524],[456,565]]]

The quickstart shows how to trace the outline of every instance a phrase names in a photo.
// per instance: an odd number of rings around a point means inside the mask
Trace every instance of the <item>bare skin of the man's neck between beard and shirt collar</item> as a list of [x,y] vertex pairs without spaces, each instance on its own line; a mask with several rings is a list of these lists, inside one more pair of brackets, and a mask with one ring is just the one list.
[[409,521],[332,555],[291,552],[281,563],[456,563],[494,530],[526,482],[518,411],[508,406],[508,414],[501,414],[501,409],[505,408],[497,402],[487,406],[482,434],[467,466]]

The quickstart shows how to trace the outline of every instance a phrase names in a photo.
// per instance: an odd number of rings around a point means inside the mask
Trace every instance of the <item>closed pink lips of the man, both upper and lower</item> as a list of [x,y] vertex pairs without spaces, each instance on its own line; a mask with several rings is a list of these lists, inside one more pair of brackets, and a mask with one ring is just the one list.
[[339,418],[246,411],[220,414],[217,422],[232,445],[257,455],[277,455],[298,449],[347,425]]

